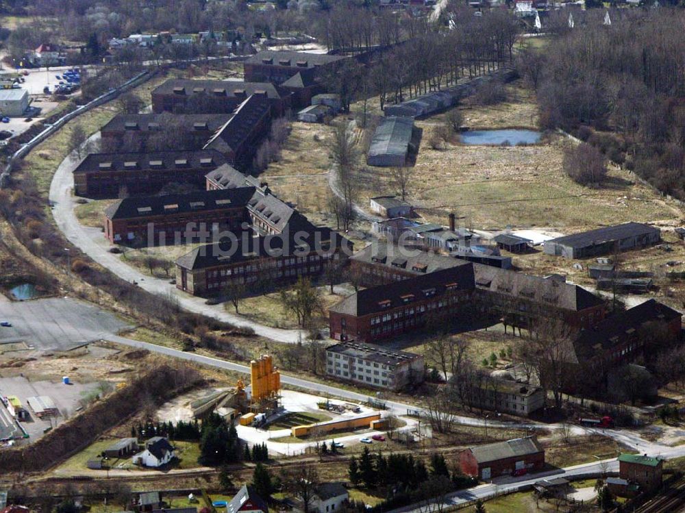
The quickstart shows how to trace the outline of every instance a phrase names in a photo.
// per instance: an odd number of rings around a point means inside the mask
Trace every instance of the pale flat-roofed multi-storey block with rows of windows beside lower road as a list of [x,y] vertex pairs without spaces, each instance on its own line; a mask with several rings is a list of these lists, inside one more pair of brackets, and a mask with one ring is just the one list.
[[326,348],[326,375],[340,381],[401,390],[420,384],[425,375],[423,356],[355,341]]

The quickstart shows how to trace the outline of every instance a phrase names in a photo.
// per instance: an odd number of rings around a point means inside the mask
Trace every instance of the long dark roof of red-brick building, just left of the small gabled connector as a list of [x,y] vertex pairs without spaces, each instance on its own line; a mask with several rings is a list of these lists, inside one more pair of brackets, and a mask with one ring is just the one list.
[[108,219],[130,219],[244,207],[254,191],[254,187],[242,187],[202,190],[187,194],[129,197],[115,201],[105,208],[105,216]]

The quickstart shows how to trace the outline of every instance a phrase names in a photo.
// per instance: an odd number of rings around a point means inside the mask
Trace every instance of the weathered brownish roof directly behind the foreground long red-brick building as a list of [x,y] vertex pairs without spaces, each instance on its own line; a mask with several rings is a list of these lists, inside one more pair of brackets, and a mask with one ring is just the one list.
[[[403,271],[415,275],[433,273],[440,269],[466,265],[464,260],[458,260],[438,253],[408,249],[386,242],[373,242],[361,251],[352,255],[352,260],[367,262],[386,267],[401,266]],[[397,261],[400,259],[401,262]]]

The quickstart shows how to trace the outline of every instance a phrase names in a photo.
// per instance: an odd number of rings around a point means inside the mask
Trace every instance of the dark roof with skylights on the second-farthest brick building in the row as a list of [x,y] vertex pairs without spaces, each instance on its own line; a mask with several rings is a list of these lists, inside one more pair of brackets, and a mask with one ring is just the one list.
[[153,95],[192,96],[207,94],[212,97],[242,98],[264,93],[269,99],[279,99],[275,86],[269,82],[234,82],[232,80],[169,79],[153,91]]

